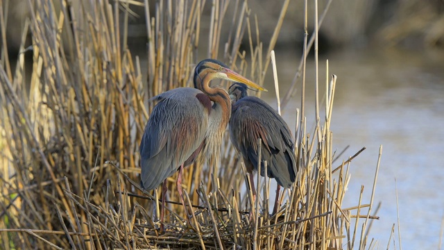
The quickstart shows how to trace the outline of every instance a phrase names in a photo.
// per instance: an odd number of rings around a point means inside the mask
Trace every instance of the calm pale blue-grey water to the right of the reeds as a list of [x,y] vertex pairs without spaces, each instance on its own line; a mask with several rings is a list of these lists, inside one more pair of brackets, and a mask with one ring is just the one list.
[[[300,56],[276,51],[281,93],[289,88]],[[334,149],[342,151],[341,160],[367,149],[352,161],[351,180],[343,205],[357,206],[361,185],[364,200],[370,203],[379,146],[382,159],[375,190],[374,208],[381,202],[373,222],[371,238],[378,249],[386,249],[395,224],[390,249],[438,249],[444,217],[444,55],[432,51],[348,51],[325,58],[330,74],[336,74],[336,93],[331,128]],[[320,59],[320,80],[325,85],[325,58]],[[314,82],[314,63],[307,65],[307,84]],[[271,76],[271,75],[270,75]],[[262,97],[275,106],[271,80],[270,92]],[[320,93],[324,90],[321,88]],[[321,95],[322,98],[322,95]],[[314,91],[307,86],[307,126],[314,121]],[[295,111],[300,107],[300,92],[284,108],[284,119],[294,131]],[[341,163],[339,160],[334,165]],[[337,178],[337,175],[335,175]],[[356,213],[356,210],[352,211]],[[359,221],[358,228],[364,219]],[[396,244],[394,246],[393,244]]]

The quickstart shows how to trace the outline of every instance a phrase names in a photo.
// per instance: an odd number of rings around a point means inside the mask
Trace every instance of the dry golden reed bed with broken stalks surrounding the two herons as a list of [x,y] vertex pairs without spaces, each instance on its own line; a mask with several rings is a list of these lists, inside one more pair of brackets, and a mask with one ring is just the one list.
[[[313,131],[307,130],[305,101],[295,115],[300,171],[277,215],[268,211],[270,179],[257,177],[258,199],[252,202],[248,185],[252,180],[228,136],[217,163],[185,169],[187,211],[176,202],[176,175],[168,178],[171,192],[164,233],[157,219],[160,194],[139,189],[139,142],[154,105],[148,99],[171,88],[191,86],[194,65],[203,58],[219,58],[262,85],[289,1],[284,1],[266,49],[259,40],[257,17],[246,1],[28,3],[32,12],[15,67],[9,64],[2,28],[2,249],[375,246],[373,240],[368,242],[367,226],[369,219],[377,218],[371,214],[373,195],[369,203],[361,197],[357,206],[342,207],[350,181],[348,169],[359,152],[333,165],[339,157],[330,131],[336,76],[326,76],[325,117],[316,112]],[[146,15],[147,51],[140,57],[131,54],[126,37],[134,8],[144,8]],[[307,16],[307,9],[304,13]],[[7,16],[7,10],[0,9],[1,27],[6,26]],[[229,27],[228,36],[223,35],[225,27]],[[203,32],[205,28],[208,32]],[[310,47],[307,26],[305,31],[302,97]],[[25,45],[28,32],[29,47]],[[240,51],[245,41],[249,50]],[[31,62],[26,61],[28,54]],[[146,60],[146,68],[141,60]],[[316,110],[321,108],[319,102]],[[379,161],[375,183],[378,167]],[[352,221],[355,228],[350,228]]]

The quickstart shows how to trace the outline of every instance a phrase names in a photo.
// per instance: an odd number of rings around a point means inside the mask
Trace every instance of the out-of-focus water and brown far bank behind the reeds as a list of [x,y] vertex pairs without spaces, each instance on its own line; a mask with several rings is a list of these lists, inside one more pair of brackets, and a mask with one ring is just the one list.
[[[76,1],[72,2],[76,6]],[[154,6],[155,1],[151,2]],[[314,26],[314,3],[309,2],[310,37]],[[341,160],[366,147],[350,165],[352,178],[345,207],[357,206],[361,185],[364,185],[362,203],[370,202],[382,145],[374,201],[381,203],[377,213],[380,219],[373,222],[370,236],[378,240],[380,249],[388,244],[391,248],[399,248],[399,234],[404,249],[441,249],[444,219],[444,1],[318,2],[320,17],[329,7],[319,32],[320,79],[321,83],[325,81],[328,60],[328,74],[338,76],[331,126],[336,155],[346,149],[334,165],[340,165]],[[250,16],[257,17],[259,39],[264,45],[270,42],[283,3],[282,0],[248,1]],[[9,10],[6,38],[10,60],[15,62],[21,27],[30,15],[28,1],[2,1],[2,7]],[[210,1],[205,8],[209,16]],[[144,8],[133,5],[131,10],[134,13],[129,21],[128,47],[133,55],[141,58],[143,71],[147,56]],[[233,11],[228,6],[227,22]],[[300,64],[303,17],[303,1],[290,1],[275,46],[281,96],[289,92]],[[209,32],[205,26],[201,30],[204,37]],[[248,48],[249,45],[244,46]],[[207,57],[205,49],[200,51],[200,59]],[[310,110],[314,107],[311,105],[314,103],[314,74],[314,55],[310,54],[306,81],[308,127],[314,126],[314,110]],[[300,108],[300,79],[295,84],[296,91],[283,108],[283,117],[292,131],[296,126],[296,108]],[[265,85],[268,90],[274,89],[271,67]],[[262,98],[272,106],[276,105],[274,91],[263,94]],[[393,226],[393,236],[389,240]]]

